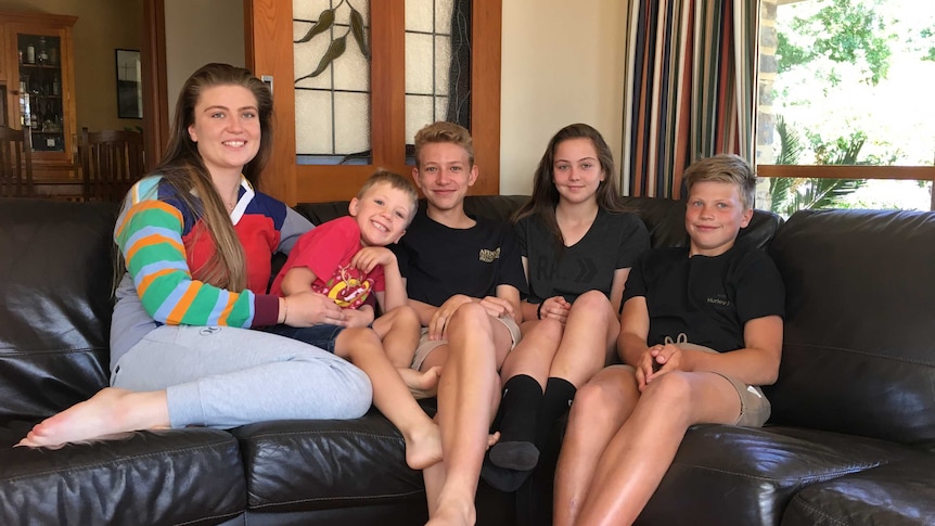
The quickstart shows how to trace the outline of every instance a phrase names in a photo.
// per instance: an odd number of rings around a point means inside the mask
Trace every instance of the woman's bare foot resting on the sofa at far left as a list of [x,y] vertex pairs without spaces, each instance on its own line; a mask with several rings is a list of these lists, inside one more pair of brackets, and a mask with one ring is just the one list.
[[66,442],[168,425],[165,392],[133,393],[105,387],[90,399],[36,424],[17,446],[55,448]]

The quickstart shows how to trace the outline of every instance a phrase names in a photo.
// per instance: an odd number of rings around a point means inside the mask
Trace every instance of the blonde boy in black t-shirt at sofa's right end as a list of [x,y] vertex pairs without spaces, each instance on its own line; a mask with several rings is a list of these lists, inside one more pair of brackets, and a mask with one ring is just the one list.
[[625,288],[611,367],[572,406],[556,467],[554,525],[631,524],[690,425],[763,425],[758,386],[779,374],[784,288],[772,260],[735,243],[756,176],[717,155],[684,174],[690,245],[653,249]]

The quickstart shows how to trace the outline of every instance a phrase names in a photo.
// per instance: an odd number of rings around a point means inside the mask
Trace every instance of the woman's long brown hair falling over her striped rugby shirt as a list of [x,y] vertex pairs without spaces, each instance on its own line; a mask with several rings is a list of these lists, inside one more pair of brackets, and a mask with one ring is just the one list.
[[191,269],[192,275],[212,285],[242,291],[247,286],[246,256],[234,232],[223,200],[215,189],[212,176],[189,136],[195,120],[195,105],[202,92],[217,86],[241,86],[257,101],[260,124],[259,151],[243,168],[254,187],[272,150],[272,95],[269,88],[249,70],[230,64],[206,64],[193,73],[179,93],[176,114],[166,152],[153,174],[162,176],[192,213],[201,218],[214,242],[214,254],[205,265]]

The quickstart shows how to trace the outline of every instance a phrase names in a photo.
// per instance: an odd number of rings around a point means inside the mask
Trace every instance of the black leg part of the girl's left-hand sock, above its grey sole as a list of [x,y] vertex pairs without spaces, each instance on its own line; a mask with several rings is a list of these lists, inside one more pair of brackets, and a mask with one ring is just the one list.
[[503,399],[497,410],[494,431],[500,441],[531,442],[536,439],[536,420],[542,402],[542,386],[527,374],[517,374],[503,386]]

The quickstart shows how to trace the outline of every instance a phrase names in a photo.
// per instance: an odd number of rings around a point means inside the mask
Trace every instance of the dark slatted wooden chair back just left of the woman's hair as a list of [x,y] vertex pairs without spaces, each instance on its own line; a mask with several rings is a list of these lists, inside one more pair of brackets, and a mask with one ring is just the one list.
[[145,172],[143,134],[82,128],[78,162],[85,201],[119,202]]

